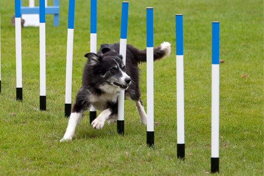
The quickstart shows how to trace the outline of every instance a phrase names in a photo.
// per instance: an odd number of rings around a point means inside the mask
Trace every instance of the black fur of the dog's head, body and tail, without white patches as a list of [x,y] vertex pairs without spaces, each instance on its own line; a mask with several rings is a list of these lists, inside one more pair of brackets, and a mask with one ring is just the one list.
[[[132,45],[127,45],[125,72],[131,78],[131,83],[125,90],[125,95],[126,98],[131,98],[135,102],[140,101],[141,104],[138,64],[141,62],[146,62],[146,52],[146,49],[140,51],[134,48]],[[166,51],[161,50],[160,46],[154,49],[154,60],[161,59],[165,55]],[[85,57],[88,58],[88,60],[84,67],[82,87],[76,96],[76,103],[73,105],[72,113],[79,113],[81,111],[88,110],[91,104],[93,104],[91,101],[91,96],[102,97],[106,96],[106,94],[109,94],[107,91],[102,89],[101,86],[110,86],[108,85],[109,83],[106,83],[106,81],[107,79],[110,79],[109,77],[111,76],[111,72],[109,72],[109,69],[112,67],[111,65],[118,63],[118,67],[122,67],[123,69],[123,57],[119,55],[119,43],[103,44],[101,45],[101,48],[97,54],[88,53],[85,55]],[[115,74],[117,75],[117,72]],[[121,89],[117,89],[115,92],[116,97],[120,90]],[[93,101],[94,100],[95,98],[93,98]],[[102,107],[99,107],[95,104],[93,105],[101,111],[110,108],[112,112],[111,116],[117,114],[117,98],[112,98],[101,103],[104,104]]]

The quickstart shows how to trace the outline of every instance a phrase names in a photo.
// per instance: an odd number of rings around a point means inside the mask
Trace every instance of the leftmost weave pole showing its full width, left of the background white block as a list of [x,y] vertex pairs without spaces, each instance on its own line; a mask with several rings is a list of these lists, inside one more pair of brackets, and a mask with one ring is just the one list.
[[16,100],[23,100],[20,0],[15,0]]

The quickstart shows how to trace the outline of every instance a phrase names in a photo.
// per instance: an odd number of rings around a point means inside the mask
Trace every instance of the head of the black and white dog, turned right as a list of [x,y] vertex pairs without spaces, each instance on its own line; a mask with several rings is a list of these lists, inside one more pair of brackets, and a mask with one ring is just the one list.
[[126,66],[122,56],[109,48],[102,49],[102,55],[87,53],[87,64],[93,74],[100,76],[100,85],[103,91],[109,92],[113,89],[126,90],[131,83],[131,78],[126,74]]

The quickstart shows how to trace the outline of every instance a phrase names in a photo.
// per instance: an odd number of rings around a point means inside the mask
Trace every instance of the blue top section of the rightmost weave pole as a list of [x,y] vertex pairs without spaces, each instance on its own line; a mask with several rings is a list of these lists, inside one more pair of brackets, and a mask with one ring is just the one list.
[[212,64],[219,64],[219,22],[212,22]]

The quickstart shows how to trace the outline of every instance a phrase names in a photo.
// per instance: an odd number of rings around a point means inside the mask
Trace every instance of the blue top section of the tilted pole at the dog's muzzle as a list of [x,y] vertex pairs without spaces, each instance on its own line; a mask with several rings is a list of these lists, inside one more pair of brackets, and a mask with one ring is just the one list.
[[128,2],[122,2],[120,39],[127,38]]

